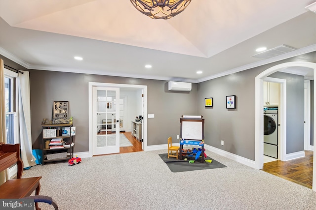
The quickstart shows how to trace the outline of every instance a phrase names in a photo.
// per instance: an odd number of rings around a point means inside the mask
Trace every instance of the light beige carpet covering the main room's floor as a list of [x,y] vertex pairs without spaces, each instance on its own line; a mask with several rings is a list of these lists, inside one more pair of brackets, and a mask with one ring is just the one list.
[[[36,165],[40,195],[60,210],[315,210],[316,192],[206,150],[227,167],[172,173],[158,154],[140,151]],[[42,210],[50,210],[40,203]]]

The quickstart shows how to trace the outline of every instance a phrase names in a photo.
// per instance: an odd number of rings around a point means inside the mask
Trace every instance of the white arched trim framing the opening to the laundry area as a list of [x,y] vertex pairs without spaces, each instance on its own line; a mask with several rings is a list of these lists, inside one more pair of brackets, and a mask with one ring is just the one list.
[[[262,169],[263,167],[263,79],[276,71],[291,66],[302,66],[313,69],[314,81],[316,80],[316,63],[305,61],[281,63],[268,68],[255,77],[255,167],[257,169]],[[316,109],[315,92],[316,86],[314,86],[314,110]],[[283,120],[286,120],[286,116],[283,116]],[[314,121],[316,121],[316,115],[314,115]],[[316,123],[314,123],[314,130],[316,130]],[[314,132],[314,142],[315,139],[316,132]],[[316,147],[314,147],[314,154],[316,154]],[[313,158],[313,190],[316,191],[316,155]]]

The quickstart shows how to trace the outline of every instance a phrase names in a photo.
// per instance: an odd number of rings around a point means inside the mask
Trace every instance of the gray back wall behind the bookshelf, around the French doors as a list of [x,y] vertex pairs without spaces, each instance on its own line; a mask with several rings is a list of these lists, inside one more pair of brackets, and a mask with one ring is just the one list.
[[148,145],[166,144],[180,133],[180,117],[194,115],[196,84],[191,92],[171,92],[166,81],[54,71],[30,70],[31,122],[34,148],[40,147],[41,120],[51,119],[54,100],[69,101],[69,115],[76,126],[75,152],[88,151],[88,82],[148,86]]

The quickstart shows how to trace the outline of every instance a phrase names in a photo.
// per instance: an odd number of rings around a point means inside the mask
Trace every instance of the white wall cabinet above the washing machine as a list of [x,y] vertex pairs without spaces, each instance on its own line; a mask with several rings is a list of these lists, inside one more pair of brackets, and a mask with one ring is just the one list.
[[263,82],[263,106],[278,106],[279,84]]

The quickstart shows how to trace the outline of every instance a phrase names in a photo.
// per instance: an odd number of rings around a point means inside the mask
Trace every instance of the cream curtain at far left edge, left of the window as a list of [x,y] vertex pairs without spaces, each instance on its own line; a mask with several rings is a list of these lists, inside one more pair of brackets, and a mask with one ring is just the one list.
[[[3,60],[0,59],[0,142],[6,143],[6,126],[5,126],[5,92],[4,92],[4,66]],[[0,185],[7,180],[7,169],[0,172]]]

